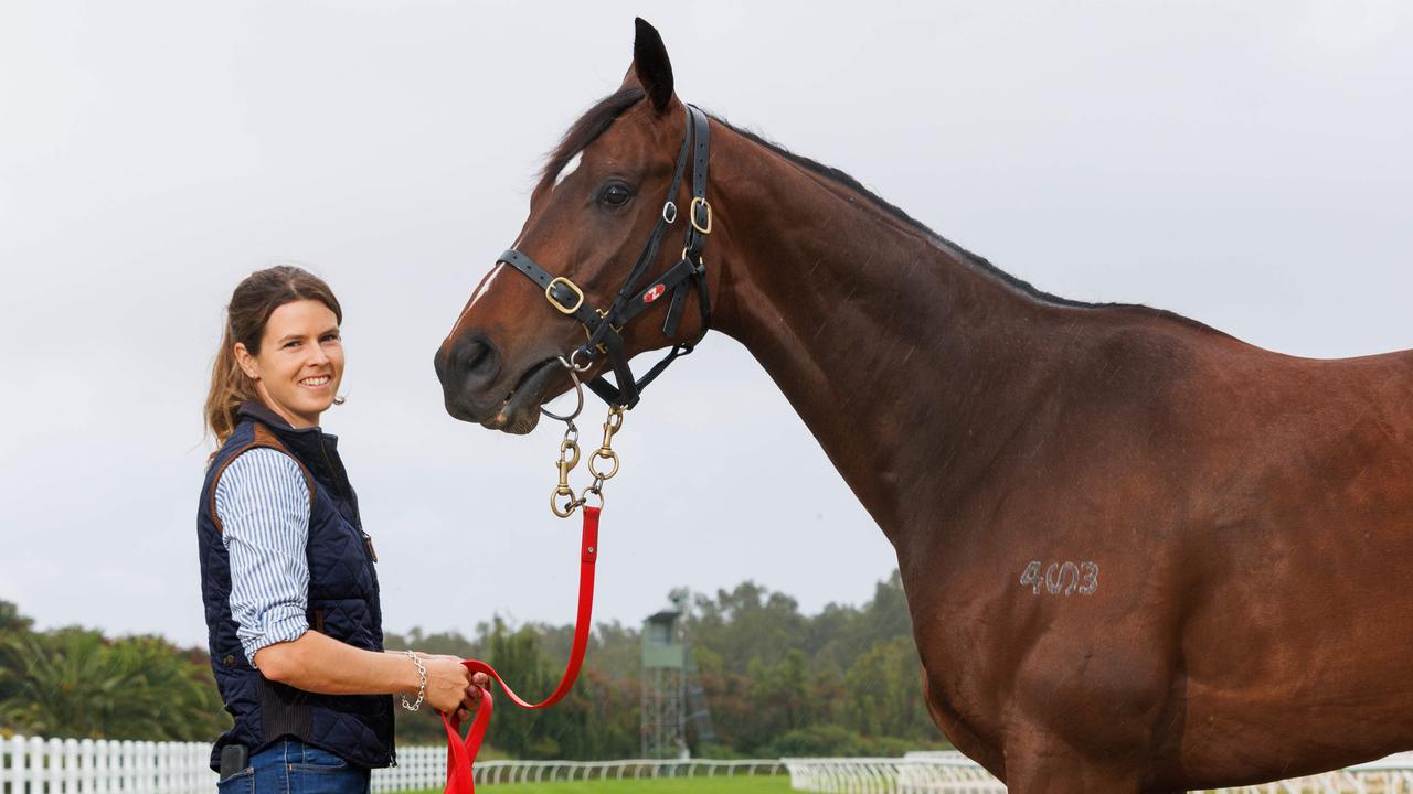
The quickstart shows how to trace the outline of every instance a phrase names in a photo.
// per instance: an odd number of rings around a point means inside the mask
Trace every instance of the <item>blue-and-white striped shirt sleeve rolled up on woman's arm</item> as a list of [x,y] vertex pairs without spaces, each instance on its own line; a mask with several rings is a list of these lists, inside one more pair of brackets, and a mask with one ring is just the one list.
[[309,630],[309,486],[284,452],[254,448],[216,482],[220,540],[230,557],[230,616],[250,664],[256,651]]

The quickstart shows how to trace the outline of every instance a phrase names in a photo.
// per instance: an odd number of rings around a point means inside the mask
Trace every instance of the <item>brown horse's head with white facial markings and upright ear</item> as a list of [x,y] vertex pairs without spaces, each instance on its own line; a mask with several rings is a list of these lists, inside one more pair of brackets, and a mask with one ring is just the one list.
[[[540,407],[572,386],[565,366],[571,360],[585,379],[615,369],[623,389],[623,370],[615,362],[626,367],[636,353],[705,332],[705,270],[699,250],[695,266],[684,266],[690,257],[687,250],[678,256],[678,235],[685,230],[704,240],[711,225],[709,205],[692,202],[694,168],[684,175],[682,167],[691,160],[684,131],[691,137],[695,119],[701,144],[692,154],[704,155],[706,120],[674,93],[658,32],[643,20],[636,24],[623,85],[591,107],[550,154],[520,236],[472,292],[437,350],[437,377],[452,417],[530,432]],[[705,181],[705,161],[701,177]],[[680,280],[663,284],[661,274],[674,263],[682,266]],[[692,288],[699,300],[685,301]],[[649,307],[664,294],[666,311]],[[647,309],[671,319],[609,322]]]

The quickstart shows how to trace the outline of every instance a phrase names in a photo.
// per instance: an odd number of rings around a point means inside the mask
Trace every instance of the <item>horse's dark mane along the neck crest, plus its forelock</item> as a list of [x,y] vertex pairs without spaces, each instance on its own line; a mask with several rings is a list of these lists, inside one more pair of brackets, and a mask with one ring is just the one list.
[[[538,181],[538,186],[536,189],[538,191],[540,188],[543,188],[543,186],[545,186],[548,184],[552,184],[554,178],[560,175],[560,171],[564,170],[564,167],[569,162],[569,160],[574,160],[574,155],[579,154],[581,151],[584,151],[585,147],[588,147],[591,143],[593,143],[595,140],[598,140],[599,136],[602,136],[605,131],[608,131],[608,129],[610,126],[613,126],[613,122],[617,120],[619,116],[622,116],[630,107],[633,107],[634,105],[637,105],[639,102],[642,102],[643,96],[646,96],[646,95],[644,95],[644,92],[643,92],[642,88],[639,88],[639,86],[629,86],[629,88],[619,89],[619,90],[616,90],[616,92],[605,96],[603,99],[598,100],[592,107],[589,107],[584,113],[584,116],[581,116],[579,120],[575,122],[574,126],[571,126],[567,133],[564,133],[564,138],[560,140],[560,144],[555,146],[554,150],[548,155],[545,155],[545,164],[544,164],[544,168],[540,171],[540,181]],[[811,158],[808,158],[808,157],[805,157],[803,154],[796,154],[796,153],[790,151],[788,148],[786,148],[786,147],[783,147],[783,146],[780,146],[780,144],[777,144],[777,143],[774,143],[771,140],[767,140],[767,138],[762,137],[757,133],[753,133],[750,130],[745,130],[745,129],[740,129],[740,127],[732,124],[731,122],[725,120],[722,116],[719,116],[716,113],[708,113],[708,116],[711,116],[712,119],[715,119],[719,124],[722,124],[723,127],[729,129],[731,131],[739,134],[740,137],[743,137],[743,138],[746,138],[746,140],[749,140],[749,141],[752,141],[752,143],[755,143],[755,144],[757,144],[760,147],[764,147],[766,150],[773,151],[773,153],[779,154],[780,157],[784,157],[787,161],[798,165],[800,168],[804,168],[805,171],[810,171],[812,174],[817,174],[820,177],[831,179],[834,182],[838,182],[839,185],[844,185],[849,191],[853,191],[859,196],[862,196],[862,198],[868,199],[869,202],[872,202],[875,206],[877,206],[879,209],[882,209],[887,215],[890,215],[890,216],[896,218],[897,220],[901,220],[903,223],[906,223],[906,225],[917,229],[918,232],[921,232],[923,235],[926,235],[928,239],[931,239],[934,243],[937,243],[941,247],[947,249],[950,253],[957,254],[959,259],[962,259],[968,264],[972,264],[974,267],[979,268],[981,271],[983,271],[983,273],[986,273],[986,274],[989,274],[989,275],[1000,280],[1003,284],[1006,284],[1006,285],[1009,285],[1009,287],[1012,287],[1012,288],[1015,288],[1015,290],[1017,290],[1017,291],[1029,295],[1030,298],[1033,298],[1036,301],[1041,301],[1041,302],[1051,304],[1051,305],[1058,305],[1058,307],[1071,307],[1071,308],[1133,308],[1133,309],[1142,309],[1142,311],[1153,312],[1153,314],[1157,314],[1157,315],[1161,315],[1161,316],[1167,316],[1170,319],[1176,319],[1176,321],[1180,321],[1180,322],[1184,322],[1184,324],[1195,325],[1195,326],[1207,329],[1207,331],[1212,331],[1212,328],[1208,326],[1204,322],[1195,321],[1195,319],[1188,318],[1188,316],[1183,316],[1183,315],[1180,315],[1177,312],[1171,312],[1171,311],[1167,311],[1167,309],[1157,309],[1157,308],[1153,308],[1153,307],[1146,307],[1143,304],[1119,304],[1119,302],[1102,302],[1102,304],[1096,304],[1096,302],[1089,302],[1089,301],[1077,301],[1077,300],[1072,300],[1072,298],[1064,298],[1064,297],[1060,297],[1060,295],[1054,295],[1051,292],[1046,292],[1044,290],[1040,290],[1040,288],[1034,287],[1029,281],[1026,281],[1023,278],[1017,278],[1017,277],[1012,275],[1010,273],[1006,273],[1005,270],[996,267],[995,264],[992,264],[991,261],[988,261],[985,257],[978,256],[978,254],[975,254],[975,253],[964,249],[962,246],[958,246],[957,243],[948,240],[947,237],[942,237],[937,232],[933,232],[931,229],[927,227],[927,225],[924,225],[923,222],[917,220],[916,218],[913,218],[911,215],[909,215],[907,212],[904,212],[901,208],[889,203],[887,201],[885,201],[883,198],[880,198],[877,194],[875,194],[869,188],[863,186],[862,182],[859,182],[858,179],[855,179],[849,174],[846,174],[846,172],[844,172],[844,171],[841,171],[838,168],[834,168],[831,165],[825,165],[825,164],[822,164],[822,162],[820,162],[817,160],[811,160]]]

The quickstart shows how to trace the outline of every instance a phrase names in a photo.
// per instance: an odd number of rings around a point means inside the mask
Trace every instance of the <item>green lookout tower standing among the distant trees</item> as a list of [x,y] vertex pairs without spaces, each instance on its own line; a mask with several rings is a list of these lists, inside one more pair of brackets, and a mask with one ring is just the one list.
[[682,619],[687,591],[673,591],[673,606],[643,622],[643,757],[687,757],[687,723],[698,742],[716,739],[706,698],[697,681]]

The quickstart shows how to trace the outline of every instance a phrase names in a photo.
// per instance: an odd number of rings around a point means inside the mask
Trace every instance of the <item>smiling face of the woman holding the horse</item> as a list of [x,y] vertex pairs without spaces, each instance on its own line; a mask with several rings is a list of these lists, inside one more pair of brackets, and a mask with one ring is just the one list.
[[315,427],[343,379],[339,321],[319,301],[291,301],[270,315],[260,355],[236,343],[236,360],[266,405],[294,427]]

